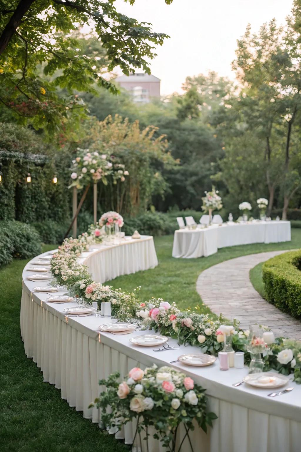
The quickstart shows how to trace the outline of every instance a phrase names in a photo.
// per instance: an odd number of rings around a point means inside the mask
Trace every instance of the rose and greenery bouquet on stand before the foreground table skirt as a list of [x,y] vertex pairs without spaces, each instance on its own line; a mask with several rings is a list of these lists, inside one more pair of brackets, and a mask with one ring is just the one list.
[[[121,429],[136,420],[131,450],[135,444],[140,444],[143,449],[143,440],[147,443],[147,450],[150,450],[149,429],[154,429],[153,438],[159,440],[166,451],[180,451],[186,437],[193,451],[189,437],[189,432],[194,430],[193,422],[196,421],[207,432],[207,425],[212,427],[213,419],[217,419],[216,414],[207,412],[205,390],[171,367],[158,368],[153,365],[144,371],[134,367],[121,383],[119,377],[119,373],[114,373],[107,380],[99,381],[107,390],[90,407],[100,408],[103,424],[110,427]],[[110,410],[107,410],[108,406]],[[179,444],[176,433],[181,423],[186,433]]]

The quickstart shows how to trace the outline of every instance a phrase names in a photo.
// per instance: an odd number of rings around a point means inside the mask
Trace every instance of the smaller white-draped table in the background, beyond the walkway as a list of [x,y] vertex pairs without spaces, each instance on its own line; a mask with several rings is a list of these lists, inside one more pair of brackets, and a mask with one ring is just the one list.
[[290,221],[223,223],[204,229],[175,231],[172,257],[198,258],[217,253],[218,248],[252,243],[279,243],[291,240]]

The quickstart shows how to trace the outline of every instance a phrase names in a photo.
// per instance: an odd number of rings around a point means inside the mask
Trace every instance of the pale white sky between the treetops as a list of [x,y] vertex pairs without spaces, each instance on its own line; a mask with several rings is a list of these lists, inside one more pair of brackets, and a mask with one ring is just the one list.
[[[167,33],[163,46],[151,62],[151,71],[161,79],[161,94],[181,92],[187,75],[208,70],[234,79],[231,62],[236,39],[250,22],[258,31],[264,22],[276,18],[284,24],[292,0],[136,0],[134,6],[117,0],[116,9],[139,21],[150,22],[153,30]],[[138,72],[141,70],[138,70]]]

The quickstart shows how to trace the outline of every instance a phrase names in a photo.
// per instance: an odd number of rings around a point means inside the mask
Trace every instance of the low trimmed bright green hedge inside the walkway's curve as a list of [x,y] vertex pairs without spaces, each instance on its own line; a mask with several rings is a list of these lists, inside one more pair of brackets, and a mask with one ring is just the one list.
[[263,267],[265,298],[281,311],[301,318],[301,250],[279,254]]

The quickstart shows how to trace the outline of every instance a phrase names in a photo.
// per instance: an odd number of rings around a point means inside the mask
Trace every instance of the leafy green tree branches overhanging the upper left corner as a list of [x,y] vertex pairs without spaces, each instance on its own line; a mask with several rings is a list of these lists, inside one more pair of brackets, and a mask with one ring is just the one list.
[[[125,1],[134,4],[135,0]],[[31,118],[35,128],[51,131],[67,127],[68,119],[79,116],[84,108],[74,89],[93,91],[97,84],[117,92],[116,85],[103,77],[103,69],[119,66],[126,75],[135,68],[150,73],[155,46],[168,36],[119,13],[114,3],[0,0],[0,102],[21,122]],[[96,51],[88,55],[79,45],[75,32],[84,25],[101,40],[105,51],[101,55]],[[58,95],[58,87],[64,90],[63,96]]]

